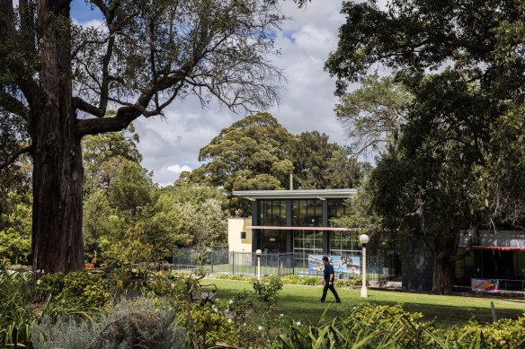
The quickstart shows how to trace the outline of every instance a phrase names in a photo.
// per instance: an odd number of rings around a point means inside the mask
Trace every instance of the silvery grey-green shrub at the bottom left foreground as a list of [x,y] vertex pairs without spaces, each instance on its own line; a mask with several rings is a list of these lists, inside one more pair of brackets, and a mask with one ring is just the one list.
[[185,334],[175,326],[175,311],[165,301],[121,301],[100,318],[44,317],[32,327],[35,349],[184,348]]

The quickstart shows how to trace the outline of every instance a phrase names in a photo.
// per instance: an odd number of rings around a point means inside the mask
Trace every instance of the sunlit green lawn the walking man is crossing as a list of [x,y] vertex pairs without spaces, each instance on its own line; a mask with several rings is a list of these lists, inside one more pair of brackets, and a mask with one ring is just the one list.
[[[254,291],[252,284],[243,281],[209,280],[218,287],[219,301],[228,301],[237,292]],[[464,325],[468,319],[474,318],[481,323],[492,321],[491,301],[498,318],[518,318],[525,311],[525,299],[509,299],[500,297],[468,297],[459,295],[439,296],[415,292],[387,292],[369,290],[369,297],[360,297],[359,289],[339,287],[336,290],[343,301],[336,304],[332,292],[328,292],[325,303],[319,303],[323,288],[321,286],[302,286],[285,284],[279,293],[279,301],[275,307],[276,314],[284,314],[286,318],[315,324],[317,319],[328,307],[327,316],[343,315],[346,310],[362,302],[373,304],[394,305],[402,303],[404,310],[421,312],[425,320],[433,320],[438,327]]]

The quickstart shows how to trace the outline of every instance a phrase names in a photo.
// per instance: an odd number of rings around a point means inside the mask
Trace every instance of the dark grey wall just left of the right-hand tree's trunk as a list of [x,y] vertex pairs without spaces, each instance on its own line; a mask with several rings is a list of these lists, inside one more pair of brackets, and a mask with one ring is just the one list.
[[[432,241],[429,241],[432,246]],[[403,256],[402,287],[404,290],[432,291],[434,257],[423,238],[412,242]]]

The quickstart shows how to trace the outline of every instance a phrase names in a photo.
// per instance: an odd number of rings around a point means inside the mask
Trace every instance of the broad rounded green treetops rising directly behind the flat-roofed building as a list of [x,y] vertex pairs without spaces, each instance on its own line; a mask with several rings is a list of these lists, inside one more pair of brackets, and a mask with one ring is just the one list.
[[292,135],[269,113],[257,113],[221,130],[200,150],[207,161],[182,179],[224,188],[230,197],[230,212],[250,207],[232,197],[234,190],[289,188],[353,188],[360,180],[360,165],[349,149],[328,142],[316,131]]

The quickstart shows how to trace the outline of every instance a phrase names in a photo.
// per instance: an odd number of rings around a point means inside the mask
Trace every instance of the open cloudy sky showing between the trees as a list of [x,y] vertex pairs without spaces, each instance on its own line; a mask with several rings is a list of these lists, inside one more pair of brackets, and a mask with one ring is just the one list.
[[[289,0],[280,2],[282,14],[293,19],[282,24],[275,45],[281,55],[273,63],[283,70],[287,81],[280,83],[280,104],[261,111],[270,112],[294,135],[318,131],[328,135],[330,142],[343,145],[347,138],[334,115],[334,79],[324,71],[344,22],[341,5],[342,0],[317,0],[299,9]],[[85,7],[84,0],[74,0],[71,15],[76,22],[86,24],[96,13]],[[218,104],[203,109],[198,100],[186,99],[166,108],[165,118],[138,118],[133,124],[140,137],[142,166],[153,170],[159,185],[173,184],[182,170],[201,165],[200,148],[221,129],[244,117]]]

